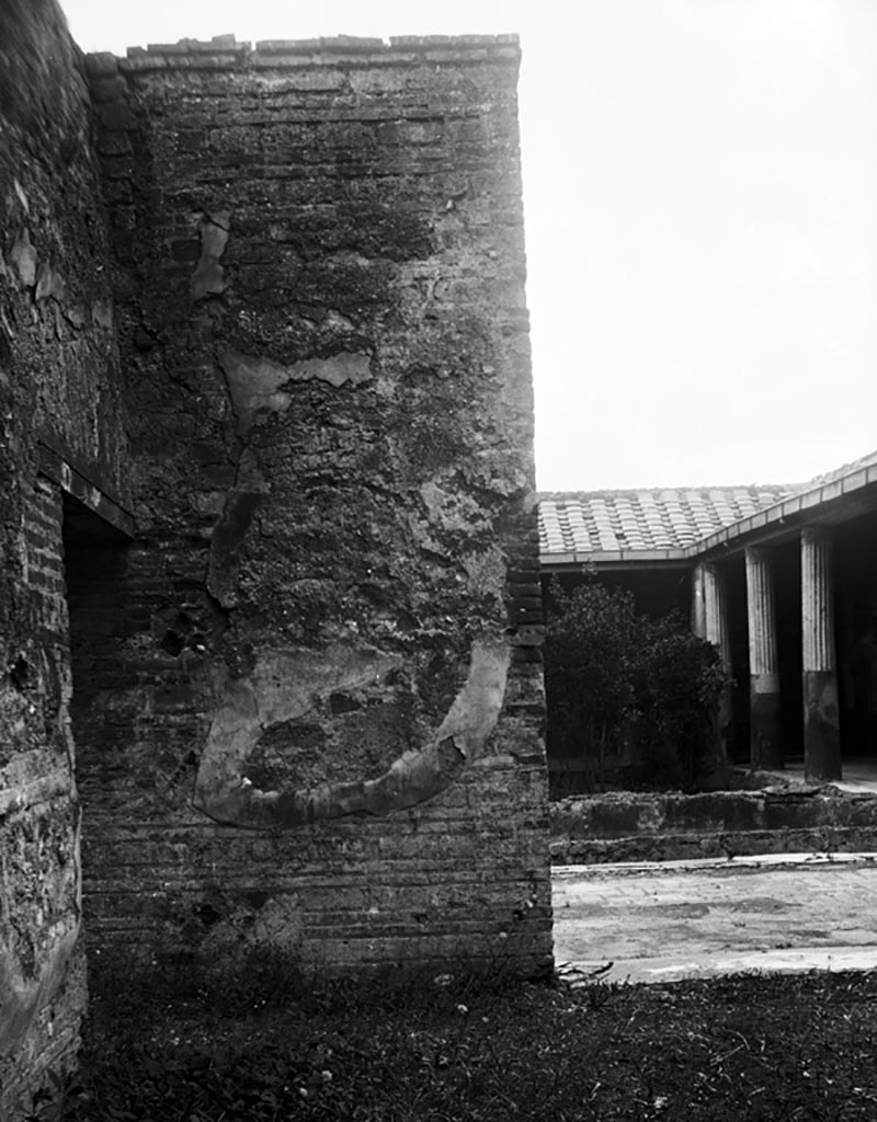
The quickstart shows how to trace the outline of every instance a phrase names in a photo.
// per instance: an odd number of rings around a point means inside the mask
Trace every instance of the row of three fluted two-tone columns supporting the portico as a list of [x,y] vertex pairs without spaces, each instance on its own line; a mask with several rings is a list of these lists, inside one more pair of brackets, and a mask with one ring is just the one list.
[[[751,762],[783,766],[776,578],[769,546],[746,549],[749,636]],[[695,634],[712,643],[731,669],[728,595],[721,567],[703,562],[694,571],[692,622]],[[801,632],[804,698],[804,771],[807,778],[840,779],[840,712],[834,642],[834,588],[829,533],[816,526],[801,532]],[[716,753],[728,756],[731,689],[719,707]]]

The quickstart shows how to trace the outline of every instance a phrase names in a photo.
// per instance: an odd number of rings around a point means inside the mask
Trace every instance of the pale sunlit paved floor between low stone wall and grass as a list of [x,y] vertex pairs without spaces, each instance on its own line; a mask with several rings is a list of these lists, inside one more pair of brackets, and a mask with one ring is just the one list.
[[563,865],[558,966],[623,982],[877,968],[877,854]]

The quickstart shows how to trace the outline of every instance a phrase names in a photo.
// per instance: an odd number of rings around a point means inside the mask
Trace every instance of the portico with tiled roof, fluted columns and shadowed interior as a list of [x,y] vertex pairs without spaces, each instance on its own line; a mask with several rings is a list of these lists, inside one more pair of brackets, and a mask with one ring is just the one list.
[[[651,610],[687,590],[693,631],[733,680],[718,757],[803,757],[814,781],[877,758],[877,452],[797,488],[552,495],[541,514],[543,572],[648,586]],[[707,516],[724,524],[698,535]]]

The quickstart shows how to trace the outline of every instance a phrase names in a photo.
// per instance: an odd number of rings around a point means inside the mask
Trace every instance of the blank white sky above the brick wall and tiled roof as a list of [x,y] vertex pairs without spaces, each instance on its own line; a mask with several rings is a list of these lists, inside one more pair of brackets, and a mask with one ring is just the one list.
[[518,31],[541,489],[877,448],[875,0],[61,0],[85,50]]

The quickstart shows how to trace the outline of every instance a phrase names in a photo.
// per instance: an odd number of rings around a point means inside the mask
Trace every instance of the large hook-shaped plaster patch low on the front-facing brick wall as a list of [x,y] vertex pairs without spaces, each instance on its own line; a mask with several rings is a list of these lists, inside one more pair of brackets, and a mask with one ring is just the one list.
[[322,655],[263,654],[249,679],[228,684],[199,766],[194,803],[218,821],[267,829],[345,815],[386,815],[432,799],[476,758],[495,728],[509,662],[504,641],[474,643],[466,684],[432,742],[404,753],[377,779],[263,791],[243,769],[266,727],[301,716],[316,695],[375,682],[401,665],[399,656],[344,646]]

